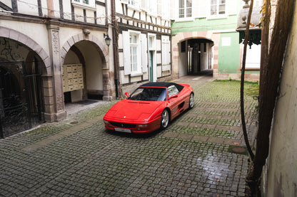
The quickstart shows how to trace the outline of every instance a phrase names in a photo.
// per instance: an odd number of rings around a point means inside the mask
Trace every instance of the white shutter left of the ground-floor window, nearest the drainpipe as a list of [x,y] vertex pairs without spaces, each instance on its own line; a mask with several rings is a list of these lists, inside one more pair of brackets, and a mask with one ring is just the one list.
[[130,38],[129,32],[123,31],[124,75],[131,74]]

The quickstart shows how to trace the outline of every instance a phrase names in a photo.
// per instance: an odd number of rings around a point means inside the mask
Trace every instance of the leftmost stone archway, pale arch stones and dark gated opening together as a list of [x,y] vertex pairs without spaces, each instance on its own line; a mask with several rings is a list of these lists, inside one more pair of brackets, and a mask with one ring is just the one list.
[[19,31],[0,27],[0,43],[0,127],[6,137],[44,122],[51,63],[46,51]]

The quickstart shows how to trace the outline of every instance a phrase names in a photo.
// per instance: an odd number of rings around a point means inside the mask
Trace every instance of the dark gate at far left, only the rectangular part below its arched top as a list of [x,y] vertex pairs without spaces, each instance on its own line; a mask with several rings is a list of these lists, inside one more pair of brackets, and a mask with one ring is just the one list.
[[[41,70],[38,61],[0,63],[0,137],[44,122]],[[34,66],[32,66],[34,65]]]

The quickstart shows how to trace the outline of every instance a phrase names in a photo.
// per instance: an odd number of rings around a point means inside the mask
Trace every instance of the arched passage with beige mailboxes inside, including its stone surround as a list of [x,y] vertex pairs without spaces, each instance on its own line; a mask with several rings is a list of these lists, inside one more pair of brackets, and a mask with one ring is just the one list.
[[65,102],[111,100],[107,51],[103,44],[95,36],[86,38],[79,34],[62,47]]

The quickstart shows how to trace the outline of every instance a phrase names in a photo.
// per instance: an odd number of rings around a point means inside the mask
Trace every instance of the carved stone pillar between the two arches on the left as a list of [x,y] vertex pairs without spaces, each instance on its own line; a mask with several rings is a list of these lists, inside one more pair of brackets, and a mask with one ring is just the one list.
[[49,53],[51,58],[51,73],[52,73],[52,102],[54,102],[53,113],[51,119],[53,121],[61,121],[66,118],[64,106],[63,78],[59,43],[59,21],[49,21],[47,23],[49,36]]

